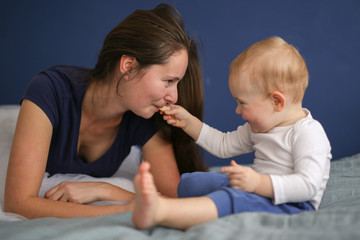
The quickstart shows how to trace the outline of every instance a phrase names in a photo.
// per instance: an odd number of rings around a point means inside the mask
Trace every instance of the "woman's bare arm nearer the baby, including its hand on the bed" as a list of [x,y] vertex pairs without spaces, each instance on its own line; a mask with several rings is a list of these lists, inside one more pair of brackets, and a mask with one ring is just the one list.
[[[152,163],[152,173],[159,191],[168,197],[177,196],[180,180],[172,145],[155,134],[143,147],[144,159]],[[51,188],[45,198],[63,202],[91,203],[124,201],[135,195],[106,182],[62,182]]]

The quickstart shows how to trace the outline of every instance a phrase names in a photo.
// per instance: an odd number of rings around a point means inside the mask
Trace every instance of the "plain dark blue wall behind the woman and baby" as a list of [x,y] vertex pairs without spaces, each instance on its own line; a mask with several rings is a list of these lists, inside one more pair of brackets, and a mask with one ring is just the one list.
[[[55,64],[92,67],[106,34],[155,0],[1,0],[0,104],[18,103],[28,81]],[[241,51],[279,35],[307,61],[304,107],[324,126],[334,159],[360,152],[359,0],[182,0],[191,35],[203,43],[205,121],[222,130],[242,124],[227,85],[228,67]],[[205,154],[211,165],[228,164]],[[248,161],[252,155],[237,157]]]

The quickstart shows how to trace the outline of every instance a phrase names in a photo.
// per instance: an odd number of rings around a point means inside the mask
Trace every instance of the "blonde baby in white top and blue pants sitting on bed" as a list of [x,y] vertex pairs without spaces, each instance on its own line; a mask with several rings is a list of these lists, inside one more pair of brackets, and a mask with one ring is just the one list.
[[229,88],[246,124],[222,133],[184,108],[164,111],[202,148],[221,158],[255,151],[252,167],[181,176],[179,199],[157,194],[144,162],[134,179],[133,222],[186,229],[240,212],[295,214],[317,210],[329,179],[331,147],[321,124],[302,107],[308,70],[299,52],[280,37],[257,42],[231,64]]

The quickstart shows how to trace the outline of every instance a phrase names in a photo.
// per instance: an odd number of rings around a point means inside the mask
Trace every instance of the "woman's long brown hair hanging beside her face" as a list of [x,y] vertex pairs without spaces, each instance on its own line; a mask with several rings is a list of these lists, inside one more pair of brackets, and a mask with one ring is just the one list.
[[[133,56],[138,62],[134,71],[141,72],[153,64],[164,64],[175,52],[186,49],[188,68],[178,84],[177,104],[203,119],[202,72],[195,41],[185,32],[179,12],[168,4],[151,10],[136,10],[117,25],[105,38],[98,62],[91,70],[91,81],[111,81],[122,55]],[[121,81],[123,76],[118,79]],[[173,144],[180,173],[205,171],[199,147],[181,129],[167,125],[156,113],[162,137]]]

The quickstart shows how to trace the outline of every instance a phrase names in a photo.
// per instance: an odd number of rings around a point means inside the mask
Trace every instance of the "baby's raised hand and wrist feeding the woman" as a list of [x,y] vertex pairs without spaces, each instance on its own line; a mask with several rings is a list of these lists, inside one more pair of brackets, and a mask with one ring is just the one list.
[[168,124],[182,128],[190,137],[197,141],[203,126],[203,123],[197,117],[178,105],[172,105],[170,110],[165,110],[162,113],[164,114],[164,120]]

